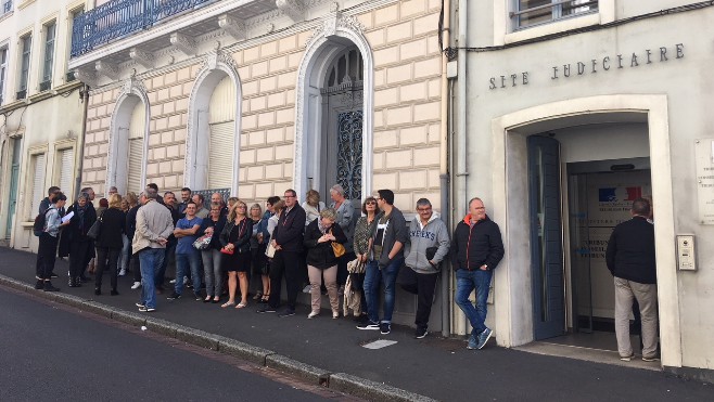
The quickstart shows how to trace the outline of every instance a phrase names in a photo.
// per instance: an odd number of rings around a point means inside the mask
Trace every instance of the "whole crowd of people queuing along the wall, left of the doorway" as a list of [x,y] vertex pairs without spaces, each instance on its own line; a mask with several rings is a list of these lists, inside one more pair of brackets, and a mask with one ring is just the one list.
[[[94,293],[101,295],[102,276],[109,271],[111,295],[117,295],[117,276],[131,270],[132,289],[141,287],[140,311],[156,310],[156,294],[163,293],[168,260],[175,258],[176,275],[168,300],[180,299],[184,288],[192,287],[195,300],[225,301],[221,308],[244,309],[253,284],[253,299],[264,303],[257,312],[285,317],[295,315],[297,296],[307,284],[308,319],[321,313],[323,291],[331,316],[340,317],[340,296],[344,295],[344,315],[352,310],[359,321],[357,328],[383,335],[392,328],[398,283],[417,295],[415,336],[423,338],[442,261],[450,256],[457,270],[457,303],[474,328],[469,348],[481,349],[492,336],[484,324],[486,299],[503,246],[498,225],[485,215],[479,198],[471,200],[470,213],[450,239],[429,199],[417,202],[418,213],[407,222],[394,206],[391,190],[365,198],[361,213],[339,184],[330,189],[329,207],[317,191],[310,190],[301,205],[295,191],[288,190],[282,199],[267,199],[265,213],[260,205],[248,209],[235,197],[226,204],[218,193],[205,208],[203,195],[187,187],[181,190],[181,203],[171,192],[160,196],[154,184],[139,197],[132,193],[122,197],[114,187],[109,193],[107,207],[98,212],[93,191],[82,189],[65,215],[66,197],[56,187],[50,190],[43,203],[48,219],[40,236],[38,288],[58,290],[49,282],[53,267],[50,255],[56,254],[62,229],[61,237],[66,236],[68,243],[69,286],[86,282],[85,269],[95,256]],[[62,217],[71,212],[71,219],[63,221]],[[88,232],[97,220],[101,231],[91,238]],[[278,312],[283,278],[286,306]],[[474,289],[475,307],[469,301]]]

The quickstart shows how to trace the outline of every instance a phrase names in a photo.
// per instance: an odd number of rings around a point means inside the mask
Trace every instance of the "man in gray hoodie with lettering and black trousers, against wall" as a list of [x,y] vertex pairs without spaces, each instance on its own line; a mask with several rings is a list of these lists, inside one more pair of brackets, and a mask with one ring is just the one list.
[[421,339],[426,336],[439,264],[449,252],[449,231],[432,210],[429,199],[419,198],[417,212],[419,216],[409,224],[409,243],[404,261],[408,269],[404,272],[401,287],[417,295],[415,337]]

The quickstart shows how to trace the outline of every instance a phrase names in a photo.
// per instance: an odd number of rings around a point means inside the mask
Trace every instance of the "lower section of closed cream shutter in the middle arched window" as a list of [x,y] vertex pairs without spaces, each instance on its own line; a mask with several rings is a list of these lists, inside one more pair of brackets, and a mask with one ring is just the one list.
[[230,189],[233,181],[233,121],[211,125],[208,189]]

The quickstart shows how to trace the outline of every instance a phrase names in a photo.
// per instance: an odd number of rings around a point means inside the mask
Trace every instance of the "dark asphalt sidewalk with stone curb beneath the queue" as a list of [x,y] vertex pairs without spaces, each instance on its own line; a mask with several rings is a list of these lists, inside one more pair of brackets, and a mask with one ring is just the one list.
[[[102,296],[93,283],[67,287],[67,262],[58,260],[60,275],[53,284],[62,289],[46,294],[33,289],[36,255],[0,247],[0,285],[22,288],[105,316],[156,330],[242,359],[292,372],[331,389],[371,400],[714,400],[714,386],[688,381],[663,372],[637,369],[540,355],[497,347],[466,349],[466,341],[430,333],[413,338],[413,328],[393,326],[390,335],[359,330],[352,319],[332,320],[329,311],[313,320],[309,308],[278,317],[257,314],[258,303],[245,309],[186,298],[166,300],[158,295],[157,310],[139,313],[139,290],[130,277],[119,277],[119,295],[109,296],[109,277]],[[187,291],[188,290],[188,291]],[[194,330],[194,329],[197,330]],[[396,341],[371,350],[364,345],[378,339]]]

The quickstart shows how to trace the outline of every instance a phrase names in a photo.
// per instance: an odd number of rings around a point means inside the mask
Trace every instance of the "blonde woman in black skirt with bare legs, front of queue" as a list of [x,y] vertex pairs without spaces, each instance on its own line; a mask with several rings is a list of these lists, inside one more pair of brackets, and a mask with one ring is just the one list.
[[247,206],[242,200],[238,200],[228,213],[226,228],[220,232],[222,265],[228,271],[228,301],[221,304],[222,308],[235,304],[237,277],[240,281],[241,302],[235,308],[247,307],[247,271],[251,269],[253,221],[246,213]]

